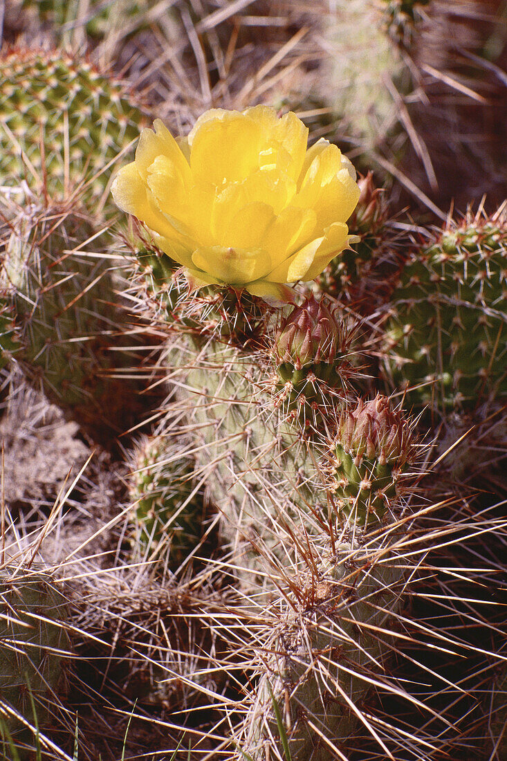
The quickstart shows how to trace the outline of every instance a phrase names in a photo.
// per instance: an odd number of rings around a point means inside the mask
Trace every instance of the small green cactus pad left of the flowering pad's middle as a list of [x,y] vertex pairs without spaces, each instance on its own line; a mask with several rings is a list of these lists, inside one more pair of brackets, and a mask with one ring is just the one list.
[[172,446],[165,436],[143,438],[130,479],[136,554],[164,558],[171,571],[187,561],[205,533],[202,484],[193,457],[184,450],[181,437]]

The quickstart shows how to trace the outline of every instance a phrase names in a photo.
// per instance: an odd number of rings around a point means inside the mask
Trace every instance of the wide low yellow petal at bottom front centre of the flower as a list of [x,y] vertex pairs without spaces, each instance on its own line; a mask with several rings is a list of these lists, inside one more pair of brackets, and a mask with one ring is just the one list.
[[258,280],[271,267],[271,260],[265,251],[222,246],[198,249],[193,253],[192,261],[197,269],[231,285]]

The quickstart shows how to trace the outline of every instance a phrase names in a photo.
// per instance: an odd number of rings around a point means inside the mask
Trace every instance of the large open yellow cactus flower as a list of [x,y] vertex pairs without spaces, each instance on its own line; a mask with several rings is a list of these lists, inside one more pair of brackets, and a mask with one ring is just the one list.
[[212,109],[176,140],[160,119],[154,126],[116,175],[113,198],[193,288],[232,285],[283,301],[286,283],[313,280],[348,247],[356,172],[327,140],[307,150],[294,113]]

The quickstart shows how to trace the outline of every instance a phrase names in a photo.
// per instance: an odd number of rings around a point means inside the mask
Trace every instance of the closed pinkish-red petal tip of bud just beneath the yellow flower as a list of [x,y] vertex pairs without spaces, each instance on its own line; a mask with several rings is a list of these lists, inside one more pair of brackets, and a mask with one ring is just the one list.
[[276,354],[281,364],[304,365],[318,362],[333,364],[346,351],[347,334],[338,317],[324,301],[314,295],[301,307],[295,307],[276,338]]

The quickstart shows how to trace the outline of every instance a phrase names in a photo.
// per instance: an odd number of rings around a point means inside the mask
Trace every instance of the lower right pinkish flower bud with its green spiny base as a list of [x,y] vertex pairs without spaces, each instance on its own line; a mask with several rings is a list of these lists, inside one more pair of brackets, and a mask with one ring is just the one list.
[[410,423],[385,396],[344,410],[331,465],[338,514],[362,526],[392,515],[415,454]]

